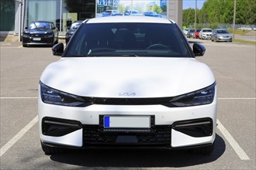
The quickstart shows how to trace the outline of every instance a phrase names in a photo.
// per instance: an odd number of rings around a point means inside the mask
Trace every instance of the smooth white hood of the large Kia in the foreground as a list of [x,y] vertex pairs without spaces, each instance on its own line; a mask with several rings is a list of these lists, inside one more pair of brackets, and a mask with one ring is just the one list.
[[62,58],[43,71],[49,87],[84,97],[175,97],[208,87],[212,71],[193,58]]

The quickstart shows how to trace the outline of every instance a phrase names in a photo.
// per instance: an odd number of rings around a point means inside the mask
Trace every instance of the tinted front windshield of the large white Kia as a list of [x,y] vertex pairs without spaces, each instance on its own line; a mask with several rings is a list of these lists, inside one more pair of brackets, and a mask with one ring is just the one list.
[[89,23],[71,40],[65,56],[190,57],[174,24]]

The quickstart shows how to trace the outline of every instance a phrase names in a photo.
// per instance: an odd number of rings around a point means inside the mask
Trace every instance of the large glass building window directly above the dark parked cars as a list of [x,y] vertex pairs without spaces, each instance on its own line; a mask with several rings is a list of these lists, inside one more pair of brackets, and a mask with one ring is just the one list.
[[95,17],[95,0],[28,0],[27,23],[33,21],[54,22],[61,31],[67,31],[71,23]]

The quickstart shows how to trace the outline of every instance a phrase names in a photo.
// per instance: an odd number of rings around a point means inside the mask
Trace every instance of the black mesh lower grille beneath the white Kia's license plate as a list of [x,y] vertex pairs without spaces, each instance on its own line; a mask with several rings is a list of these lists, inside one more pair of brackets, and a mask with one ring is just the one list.
[[[99,125],[84,125],[84,145],[171,145],[171,125],[157,125],[150,131],[140,129],[112,129],[104,131]],[[122,142],[119,137],[137,138],[136,142]]]

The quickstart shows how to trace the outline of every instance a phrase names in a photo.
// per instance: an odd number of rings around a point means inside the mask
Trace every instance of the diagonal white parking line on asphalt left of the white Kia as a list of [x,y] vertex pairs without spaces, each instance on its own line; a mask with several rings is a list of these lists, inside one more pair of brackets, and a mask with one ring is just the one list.
[[30,128],[33,127],[34,124],[36,124],[36,122],[38,121],[38,116],[34,117],[32,121],[29,122],[29,124],[26,124],[26,127],[22,128],[21,131],[19,131],[18,134],[16,134],[9,142],[7,142],[0,151],[0,157],[2,157],[2,155],[5,154],[6,151],[9,150],[9,148],[12,147],[12,145],[15,145],[17,141],[19,141],[20,138],[22,138],[22,136],[24,134],[26,134],[27,131],[29,131]]

